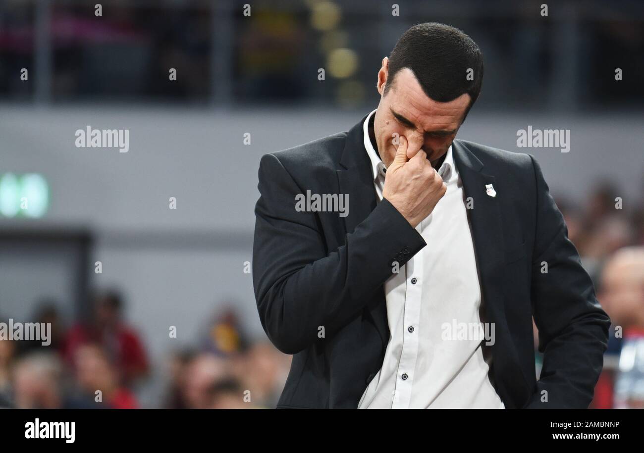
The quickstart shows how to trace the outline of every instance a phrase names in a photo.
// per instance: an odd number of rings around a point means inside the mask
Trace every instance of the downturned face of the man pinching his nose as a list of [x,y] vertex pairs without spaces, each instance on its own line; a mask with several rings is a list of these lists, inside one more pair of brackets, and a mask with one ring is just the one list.
[[422,91],[412,70],[403,68],[383,96],[388,66],[385,57],[378,73],[381,98],[374,118],[375,140],[384,165],[389,167],[393,162],[398,143],[393,139],[399,136],[409,142],[408,158],[422,149],[433,163],[450,148],[468,108],[469,95],[464,93],[450,102],[436,102]]

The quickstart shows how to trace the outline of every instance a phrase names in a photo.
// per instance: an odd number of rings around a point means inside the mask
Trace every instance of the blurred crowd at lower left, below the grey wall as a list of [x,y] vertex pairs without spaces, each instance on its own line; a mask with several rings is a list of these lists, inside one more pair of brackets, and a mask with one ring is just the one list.
[[[137,409],[151,380],[144,341],[122,317],[109,291],[92,297],[90,319],[65,328],[54,304],[39,306],[33,322],[51,323],[51,344],[0,340],[0,407]],[[149,407],[252,409],[274,407],[290,356],[268,342],[245,338],[234,313],[215,317],[198,346],[173,351],[164,395]]]

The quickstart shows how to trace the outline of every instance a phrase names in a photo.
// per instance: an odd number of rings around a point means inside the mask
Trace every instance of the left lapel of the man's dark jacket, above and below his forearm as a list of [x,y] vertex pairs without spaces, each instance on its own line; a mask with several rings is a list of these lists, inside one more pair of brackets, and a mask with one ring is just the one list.
[[[352,233],[355,227],[371,214],[377,203],[374,175],[364,143],[363,123],[367,116],[365,115],[348,131],[340,159],[343,169],[337,170],[339,193],[349,196],[350,209],[348,215],[344,217],[347,234]],[[378,291],[375,304],[369,306],[368,311],[386,347],[389,341],[389,325],[384,289]]]

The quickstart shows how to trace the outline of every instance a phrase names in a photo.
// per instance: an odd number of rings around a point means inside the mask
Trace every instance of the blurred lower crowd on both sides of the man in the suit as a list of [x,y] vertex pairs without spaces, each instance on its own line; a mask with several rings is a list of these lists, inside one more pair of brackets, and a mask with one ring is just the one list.
[[[644,207],[624,208],[609,184],[582,205],[557,201],[613,321],[591,407],[644,408]],[[275,407],[290,356],[267,340],[251,340],[234,310],[215,313],[197,344],[169,352],[165,366],[153,370],[146,341],[128,325],[120,295],[95,293],[91,302],[88,319],[70,326],[53,302],[37,308],[32,321],[51,324],[50,346],[0,340],[0,407],[142,407],[138,391],[159,370],[164,390],[146,407]],[[537,340],[535,328],[535,349]],[[537,375],[541,360],[537,353]]]

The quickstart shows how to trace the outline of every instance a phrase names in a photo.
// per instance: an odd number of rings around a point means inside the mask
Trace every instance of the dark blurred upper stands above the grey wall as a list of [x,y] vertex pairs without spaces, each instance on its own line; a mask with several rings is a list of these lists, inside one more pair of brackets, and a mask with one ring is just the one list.
[[[35,84],[16,75],[33,66],[44,45],[37,18],[48,12],[52,64],[40,72],[49,72],[53,102],[366,107],[377,101],[374,70],[396,33],[435,20],[465,30],[484,50],[494,77],[486,79],[477,108],[540,108],[553,100],[557,108],[640,107],[639,79],[607,84],[605,68],[629,62],[631,73],[641,73],[641,2],[566,2],[553,19],[539,15],[536,0],[478,3],[413,0],[394,16],[391,6],[368,0],[258,0],[244,15],[246,3],[232,0],[108,0],[97,16],[96,3],[79,0],[0,2],[0,99],[33,96]],[[560,58],[562,51],[574,58]],[[176,69],[176,80],[168,68]],[[319,68],[329,69],[323,84]],[[573,84],[574,95],[559,102],[560,88]]]

